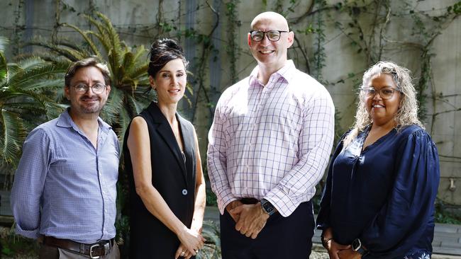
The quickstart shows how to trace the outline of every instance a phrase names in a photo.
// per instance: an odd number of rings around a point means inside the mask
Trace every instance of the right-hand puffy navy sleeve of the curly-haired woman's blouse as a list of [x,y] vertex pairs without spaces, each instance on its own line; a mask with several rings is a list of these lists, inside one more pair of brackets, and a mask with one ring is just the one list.
[[389,199],[360,236],[370,251],[365,258],[402,258],[433,224],[440,167],[437,148],[423,129],[401,140],[394,168]]

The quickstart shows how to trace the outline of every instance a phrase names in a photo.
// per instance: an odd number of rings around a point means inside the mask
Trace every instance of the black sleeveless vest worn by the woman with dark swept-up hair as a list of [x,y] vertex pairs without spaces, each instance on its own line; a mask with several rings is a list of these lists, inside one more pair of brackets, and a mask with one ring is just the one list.
[[[148,124],[152,185],[160,192],[176,217],[190,228],[194,214],[196,182],[194,127],[189,121],[176,115],[184,143],[182,154],[170,124],[156,103],[152,102],[138,116],[143,117]],[[135,190],[133,166],[127,146],[130,125],[126,129],[123,142],[125,173],[130,188],[130,259],[174,258],[179,239],[150,214]]]

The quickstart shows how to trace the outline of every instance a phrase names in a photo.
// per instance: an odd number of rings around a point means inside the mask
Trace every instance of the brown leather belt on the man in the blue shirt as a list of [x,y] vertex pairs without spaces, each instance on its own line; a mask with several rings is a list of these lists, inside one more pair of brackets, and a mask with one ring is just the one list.
[[114,243],[114,238],[111,240],[103,240],[98,243],[78,243],[72,240],[54,238],[45,236],[43,243],[47,246],[57,246],[70,251],[89,255],[89,258],[99,258],[102,255],[108,255]]

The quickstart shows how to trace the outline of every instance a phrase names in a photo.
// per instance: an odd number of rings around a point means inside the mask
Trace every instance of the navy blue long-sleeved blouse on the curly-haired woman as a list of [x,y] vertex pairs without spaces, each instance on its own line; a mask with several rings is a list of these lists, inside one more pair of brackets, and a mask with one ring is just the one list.
[[432,253],[434,202],[440,169],[431,137],[416,125],[392,129],[367,146],[370,127],[336,147],[323,190],[317,228],[350,244],[360,238],[364,258],[418,258]]

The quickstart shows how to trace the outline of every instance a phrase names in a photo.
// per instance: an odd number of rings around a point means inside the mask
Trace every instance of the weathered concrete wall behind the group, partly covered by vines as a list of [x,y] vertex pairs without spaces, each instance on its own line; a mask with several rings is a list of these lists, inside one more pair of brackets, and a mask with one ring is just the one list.
[[[160,16],[159,1],[148,0],[103,0],[103,1],[79,1],[67,0],[60,2],[60,22],[72,23],[82,28],[90,28],[87,22],[78,13],[89,13],[91,10],[97,10],[111,18],[111,21],[121,33],[121,38],[128,42],[128,45],[149,45],[150,42],[158,35],[159,28],[156,25],[157,19],[166,21],[170,25],[177,25],[181,30],[194,28],[199,33],[208,34],[213,25],[218,21],[218,28],[211,35],[211,41],[215,50],[207,57],[206,67],[206,88],[207,96],[203,91],[198,93],[197,111],[194,113],[194,125],[199,132],[201,139],[201,154],[206,154],[206,133],[211,123],[210,110],[216,103],[219,93],[227,86],[230,86],[230,60],[229,54],[226,53],[228,47],[228,18],[226,8],[229,1],[213,0],[208,1],[213,8],[219,13],[219,18],[211,11],[205,1],[162,1],[162,11]],[[262,11],[273,8],[278,1],[241,1],[237,4],[236,14],[241,25],[237,27],[235,40],[240,47],[236,72],[238,79],[248,76],[251,69],[256,63],[252,59],[247,47],[247,33],[252,18]],[[327,1],[327,4],[335,4],[340,1]],[[446,11],[447,6],[455,4],[456,0],[444,1],[409,1],[414,11],[425,11],[427,16],[438,16]],[[37,48],[21,48],[16,45],[17,42],[23,42],[30,38],[42,36],[47,39],[53,31],[55,25],[56,13],[55,0],[4,0],[0,1],[2,16],[0,16],[0,35],[6,35],[11,38],[15,45],[10,47],[9,57],[13,51],[19,54],[33,52]],[[63,3],[67,8],[62,10]],[[290,22],[306,11],[311,1],[299,1],[294,11],[287,11]],[[287,10],[289,1],[284,4],[284,10]],[[401,1],[391,1],[393,11],[399,12]],[[74,8],[75,11],[70,11]],[[403,9],[402,9],[403,10]],[[404,11],[401,11],[404,13]],[[363,52],[357,53],[357,47],[351,44],[351,39],[347,33],[338,30],[335,22],[346,25],[350,22],[350,16],[347,13],[331,12],[323,17],[325,40],[323,42],[326,58],[325,67],[321,71],[316,71],[313,66],[313,53],[316,51],[315,35],[303,35],[298,30],[303,30],[309,25],[315,25],[316,16],[305,18],[294,25],[291,29],[295,31],[296,37],[299,38],[301,47],[309,56],[311,65],[311,74],[321,73],[323,80],[326,81],[326,87],[333,96],[335,106],[340,112],[338,126],[342,129],[350,127],[355,112],[355,91],[357,82],[360,81],[361,75],[368,67],[368,61]],[[367,23],[372,23],[372,13],[360,16],[359,23],[366,27]],[[17,24],[16,24],[17,22]],[[434,142],[438,145],[442,180],[439,188],[439,197],[447,202],[461,205],[461,19],[458,17],[440,30],[433,40],[431,47],[431,82],[426,89],[428,95],[425,103],[428,109],[426,119],[426,128],[432,134]],[[429,23],[428,23],[429,26]],[[412,39],[423,37],[414,35],[414,21],[411,15],[402,14],[400,16],[391,16],[391,22],[387,26],[387,37],[384,43],[382,59],[390,59],[394,62],[404,65],[413,71],[416,76],[416,82],[421,78],[421,51],[414,47]],[[430,26],[429,26],[430,27]],[[170,33],[165,32],[163,28],[162,35],[175,35],[175,30]],[[344,28],[348,30],[348,28]],[[61,35],[79,39],[78,35],[69,28],[60,28]],[[370,31],[365,31],[365,35]],[[421,37],[420,37],[421,36]],[[191,60],[191,71],[196,71],[196,67],[201,57],[201,45],[194,38],[180,38],[182,45]],[[399,43],[400,42],[400,43]],[[411,42],[404,44],[403,42]],[[416,42],[418,43],[418,42]],[[422,43],[422,42],[419,42]],[[299,52],[299,45],[295,45],[289,52],[291,58],[296,60],[296,64],[301,70],[306,71],[305,61]],[[352,74],[352,76],[349,76]],[[345,79],[343,83],[331,84]],[[190,76],[189,81],[193,84],[196,82],[195,76]],[[435,97],[437,96],[437,97]],[[193,97],[194,98],[194,97]],[[211,105],[211,108],[210,108]],[[191,115],[184,103],[184,113]],[[455,188],[450,190],[450,180]]]

